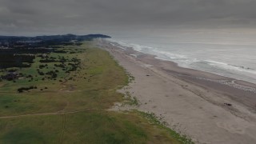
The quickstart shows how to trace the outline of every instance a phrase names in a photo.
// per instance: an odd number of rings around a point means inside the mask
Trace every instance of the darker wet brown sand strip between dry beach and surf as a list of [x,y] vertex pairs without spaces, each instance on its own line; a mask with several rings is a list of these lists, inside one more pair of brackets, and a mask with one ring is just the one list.
[[[110,43],[105,41],[105,44],[113,46]],[[113,46],[117,50],[123,50],[120,48],[121,45],[116,43],[118,46]],[[124,50],[126,55],[130,55],[134,57],[136,60],[140,62],[144,62],[144,64],[148,65],[147,68],[156,67],[158,70],[166,71],[167,74],[171,74],[172,76],[181,78],[186,82],[192,82],[194,85],[207,87],[212,90],[221,90],[222,92],[226,91],[226,95],[234,100],[241,102],[248,106],[249,110],[252,110],[256,113],[256,84],[252,82],[246,82],[243,80],[238,80],[235,78],[229,78],[218,74],[212,74],[202,70],[194,70],[190,68],[185,68],[178,66],[178,63],[172,61],[166,61],[162,59],[156,58],[157,56],[152,54],[145,54],[142,52],[138,52],[133,50],[132,48],[127,48]],[[166,69],[167,67],[167,69]],[[170,67],[170,69],[168,69]],[[206,86],[208,84],[208,86]],[[239,98],[239,96],[242,97]],[[250,101],[243,102],[245,99]]]

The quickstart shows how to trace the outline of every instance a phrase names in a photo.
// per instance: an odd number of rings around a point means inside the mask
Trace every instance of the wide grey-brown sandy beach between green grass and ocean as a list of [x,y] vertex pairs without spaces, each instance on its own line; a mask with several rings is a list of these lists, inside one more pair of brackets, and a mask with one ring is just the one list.
[[[134,76],[138,110],[153,112],[196,143],[256,143],[256,86],[98,40]],[[122,109],[121,107],[119,109]]]

